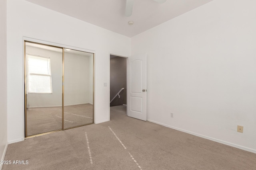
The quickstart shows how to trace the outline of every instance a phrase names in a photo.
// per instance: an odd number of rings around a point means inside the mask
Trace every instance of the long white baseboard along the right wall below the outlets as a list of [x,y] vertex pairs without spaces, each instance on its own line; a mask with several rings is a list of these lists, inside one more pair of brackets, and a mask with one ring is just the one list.
[[157,121],[152,121],[152,120],[149,120],[149,119],[147,119],[147,121],[150,121],[150,122],[152,122],[152,123],[156,123],[156,124],[158,124],[158,125],[162,125],[162,126],[165,126],[165,127],[169,127],[169,128],[171,128],[171,129],[175,129],[175,130],[178,130],[178,131],[182,131],[182,132],[185,132],[185,133],[189,133],[189,134],[191,134],[191,135],[195,135],[195,136],[198,136],[198,137],[202,137],[202,138],[208,139],[208,140],[210,140],[210,141],[222,143],[222,144],[228,145],[228,146],[230,146],[230,147],[235,147],[235,148],[238,148],[238,149],[246,150],[246,151],[248,151],[248,152],[256,153],[256,150],[255,150],[255,149],[251,149],[251,148],[244,147],[244,146],[241,146],[241,145],[236,145],[236,144],[234,144],[234,143],[222,141],[222,140],[215,139],[215,138],[212,138],[212,137],[208,137],[208,136],[205,136],[205,135],[200,135],[200,134],[198,134],[198,133],[194,133],[194,132],[191,132],[191,131],[187,131],[187,130],[184,130],[184,129],[180,129],[180,128],[178,128],[178,127],[169,126],[169,125],[166,125],[166,124],[163,124],[163,123],[159,123],[159,122],[157,122]]

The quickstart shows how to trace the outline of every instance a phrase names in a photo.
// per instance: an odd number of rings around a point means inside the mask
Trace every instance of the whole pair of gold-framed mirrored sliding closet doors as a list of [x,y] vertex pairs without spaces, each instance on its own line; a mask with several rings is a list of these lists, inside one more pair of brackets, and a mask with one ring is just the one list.
[[94,54],[24,42],[25,137],[93,123]]

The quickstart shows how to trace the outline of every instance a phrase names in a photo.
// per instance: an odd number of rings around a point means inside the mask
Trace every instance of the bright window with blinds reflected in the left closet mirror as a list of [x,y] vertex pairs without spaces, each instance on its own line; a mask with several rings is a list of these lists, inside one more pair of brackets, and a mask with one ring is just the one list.
[[52,93],[50,58],[26,55],[27,92]]

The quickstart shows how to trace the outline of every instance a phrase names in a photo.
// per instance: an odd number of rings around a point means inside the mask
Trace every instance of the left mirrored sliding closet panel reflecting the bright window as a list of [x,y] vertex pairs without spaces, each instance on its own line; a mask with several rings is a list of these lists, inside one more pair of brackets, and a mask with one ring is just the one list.
[[62,129],[62,48],[25,42],[26,136]]

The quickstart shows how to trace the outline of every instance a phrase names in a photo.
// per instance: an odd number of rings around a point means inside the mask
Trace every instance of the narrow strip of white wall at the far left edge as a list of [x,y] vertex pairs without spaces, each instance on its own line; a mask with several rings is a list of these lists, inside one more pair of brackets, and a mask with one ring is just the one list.
[[[0,160],[7,149],[7,47],[6,47],[6,0],[0,1]],[[0,169],[2,164],[0,164]]]

